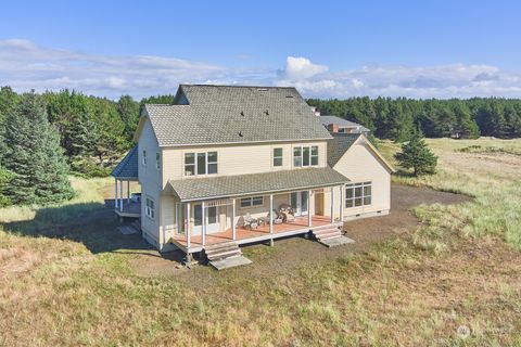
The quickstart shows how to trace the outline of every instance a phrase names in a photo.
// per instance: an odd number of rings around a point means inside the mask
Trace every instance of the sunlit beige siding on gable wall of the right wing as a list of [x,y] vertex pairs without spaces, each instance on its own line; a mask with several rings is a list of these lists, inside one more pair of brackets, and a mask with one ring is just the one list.
[[[371,205],[345,208],[344,217],[389,211],[391,208],[391,174],[363,139],[355,143],[333,168],[352,182],[372,182]],[[340,204],[340,190],[334,191],[333,204],[334,206]],[[329,190],[326,190],[325,209],[329,211],[330,208],[331,195]],[[340,206],[334,210],[335,216],[339,216]]]

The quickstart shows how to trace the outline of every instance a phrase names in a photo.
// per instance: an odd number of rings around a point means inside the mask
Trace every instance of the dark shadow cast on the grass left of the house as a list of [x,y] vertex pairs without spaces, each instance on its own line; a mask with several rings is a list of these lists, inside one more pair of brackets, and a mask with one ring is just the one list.
[[101,203],[42,207],[30,220],[2,223],[8,232],[82,243],[93,254],[105,252],[143,253],[157,256],[139,233],[122,234],[114,210]]

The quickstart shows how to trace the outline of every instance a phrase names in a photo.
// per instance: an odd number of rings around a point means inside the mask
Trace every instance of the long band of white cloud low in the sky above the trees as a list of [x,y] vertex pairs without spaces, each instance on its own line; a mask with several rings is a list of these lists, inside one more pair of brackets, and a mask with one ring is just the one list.
[[117,99],[174,93],[180,82],[294,86],[306,97],[521,98],[521,72],[490,65],[367,65],[331,70],[303,56],[282,69],[237,68],[165,56],[114,56],[0,40],[0,86],[75,89]]

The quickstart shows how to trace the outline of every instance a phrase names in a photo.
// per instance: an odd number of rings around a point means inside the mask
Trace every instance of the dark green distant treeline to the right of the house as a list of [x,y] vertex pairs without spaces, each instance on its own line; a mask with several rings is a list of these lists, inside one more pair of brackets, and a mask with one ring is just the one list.
[[428,138],[521,137],[521,100],[308,99],[322,115],[360,123],[380,139],[406,141],[415,128]]

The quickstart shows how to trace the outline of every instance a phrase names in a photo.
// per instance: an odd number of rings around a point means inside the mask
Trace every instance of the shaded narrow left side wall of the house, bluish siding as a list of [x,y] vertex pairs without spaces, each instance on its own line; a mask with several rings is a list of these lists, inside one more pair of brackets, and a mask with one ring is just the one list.
[[[143,165],[143,150],[147,151],[147,165]],[[141,184],[141,229],[149,241],[156,247],[161,247],[161,170],[155,165],[155,153],[160,151],[157,140],[152,130],[150,121],[144,121],[138,141],[139,159],[139,183]],[[147,217],[147,197],[154,201],[154,219]],[[150,240],[152,239],[152,240]]]

